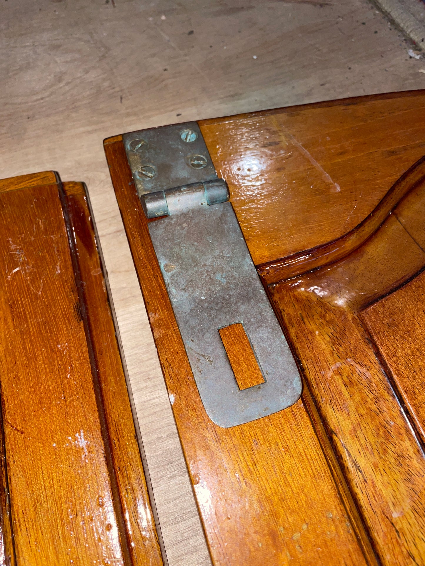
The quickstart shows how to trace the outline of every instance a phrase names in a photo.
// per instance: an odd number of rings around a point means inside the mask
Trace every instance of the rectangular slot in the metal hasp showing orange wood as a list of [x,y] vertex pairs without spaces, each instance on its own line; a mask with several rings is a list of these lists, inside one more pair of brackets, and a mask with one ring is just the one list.
[[239,389],[242,391],[264,383],[264,377],[243,324],[238,322],[220,328],[219,333]]

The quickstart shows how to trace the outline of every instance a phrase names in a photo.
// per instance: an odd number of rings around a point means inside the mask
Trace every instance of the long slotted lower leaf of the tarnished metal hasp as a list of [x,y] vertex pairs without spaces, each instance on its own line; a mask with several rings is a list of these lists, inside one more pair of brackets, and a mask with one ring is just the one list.
[[[155,139],[158,143],[162,131],[168,140],[170,131],[180,136],[182,129],[193,131],[195,126],[155,128]],[[199,139],[201,132],[197,131]],[[127,136],[151,139],[147,132],[151,130]],[[209,158],[206,147],[202,155]],[[206,181],[214,179],[198,179],[197,185],[192,181],[190,187],[181,187],[184,183],[177,177],[173,182],[178,188],[165,179],[158,186],[152,182],[149,192],[169,195],[169,203],[178,194],[181,202],[169,206],[168,216],[149,222],[148,229],[203,406],[222,427],[276,413],[298,400],[301,380],[227,201],[228,193],[226,199],[210,204]],[[221,191],[222,185],[219,187]],[[220,328],[235,323],[243,324],[265,379],[265,383],[242,390],[219,334]]]

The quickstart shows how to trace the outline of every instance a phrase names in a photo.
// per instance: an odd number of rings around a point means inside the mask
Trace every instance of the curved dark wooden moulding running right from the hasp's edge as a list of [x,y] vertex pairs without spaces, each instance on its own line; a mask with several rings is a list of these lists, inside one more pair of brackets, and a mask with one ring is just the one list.
[[284,279],[298,277],[303,273],[345,258],[366,242],[380,228],[385,218],[392,213],[401,199],[424,181],[425,156],[401,175],[380,203],[355,228],[332,242],[297,252],[286,258],[257,265],[258,275],[266,285],[270,285]]

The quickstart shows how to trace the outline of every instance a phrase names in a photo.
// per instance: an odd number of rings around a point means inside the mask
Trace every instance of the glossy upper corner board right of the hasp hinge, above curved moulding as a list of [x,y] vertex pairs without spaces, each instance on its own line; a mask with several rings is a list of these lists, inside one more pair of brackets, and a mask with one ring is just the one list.
[[276,260],[328,243],[362,222],[425,154],[423,119],[425,93],[414,91],[199,126],[228,183],[254,264],[271,262],[264,273]]

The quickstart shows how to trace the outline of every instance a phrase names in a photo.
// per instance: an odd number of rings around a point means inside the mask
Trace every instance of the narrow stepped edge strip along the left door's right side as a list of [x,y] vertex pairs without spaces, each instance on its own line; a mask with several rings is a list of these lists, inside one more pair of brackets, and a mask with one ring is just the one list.
[[162,565],[86,191],[82,183],[63,190],[131,564]]

